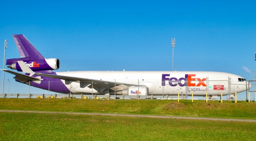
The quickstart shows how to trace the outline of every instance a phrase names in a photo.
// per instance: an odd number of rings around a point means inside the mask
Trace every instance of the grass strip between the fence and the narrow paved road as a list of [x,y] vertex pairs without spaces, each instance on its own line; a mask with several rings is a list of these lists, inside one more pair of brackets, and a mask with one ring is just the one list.
[[0,109],[256,119],[256,103],[246,101],[1,98]]

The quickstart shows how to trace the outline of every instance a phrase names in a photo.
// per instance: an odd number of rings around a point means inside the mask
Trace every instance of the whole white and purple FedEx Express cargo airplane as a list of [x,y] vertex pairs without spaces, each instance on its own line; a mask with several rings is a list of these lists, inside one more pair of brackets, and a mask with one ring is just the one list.
[[67,71],[56,58],[44,58],[22,34],[13,35],[20,58],[6,60],[20,83],[58,93],[102,95],[233,94],[251,87],[244,77],[214,71]]

